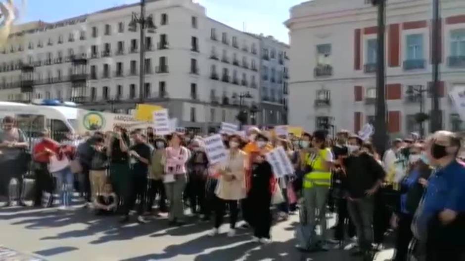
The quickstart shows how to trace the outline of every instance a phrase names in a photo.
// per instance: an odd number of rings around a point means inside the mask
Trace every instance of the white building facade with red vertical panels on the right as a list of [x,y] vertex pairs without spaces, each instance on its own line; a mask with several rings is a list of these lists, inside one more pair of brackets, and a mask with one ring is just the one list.
[[[440,2],[442,125],[458,131],[462,122],[447,93],[465,83],[465,2]],[[419,131],[415,114],[421,98],[424,112],[431,110],[431,18],[430,0],[387,0],[385,95],[391,137]],[[358,131],[374,121],[376,19],[377,9],[367,0],[313,0],[291,9],[286,21],[290,124],[308,131]],[[423,126],[427,133],[429,121]]]

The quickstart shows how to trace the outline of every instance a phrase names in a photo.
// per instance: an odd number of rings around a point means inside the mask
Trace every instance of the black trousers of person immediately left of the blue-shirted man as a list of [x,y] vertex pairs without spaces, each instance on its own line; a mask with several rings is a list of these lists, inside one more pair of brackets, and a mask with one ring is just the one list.
[[400,213],[399,224],[397,227],[396,251],[394,261],[407,261],[409,252],[409,244],[412,240],[413,233],[410,225],[412,224],[413,216]]

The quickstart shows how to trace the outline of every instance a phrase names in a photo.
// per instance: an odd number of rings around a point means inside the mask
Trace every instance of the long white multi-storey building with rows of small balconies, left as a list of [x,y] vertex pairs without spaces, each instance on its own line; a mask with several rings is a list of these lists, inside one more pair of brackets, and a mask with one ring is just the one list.
[[[15,27],[0,53],[0,99],[75,101],[131,113],[139,103],[139,4]],[[259,124],[261,38],[206,16],[191,0],[147,0],[143,102],[169,109],[179,125],[208,132],[222,121]],[[245,95],[246,93],[250,95]],[[247,98],[248,97],[248,98]]]

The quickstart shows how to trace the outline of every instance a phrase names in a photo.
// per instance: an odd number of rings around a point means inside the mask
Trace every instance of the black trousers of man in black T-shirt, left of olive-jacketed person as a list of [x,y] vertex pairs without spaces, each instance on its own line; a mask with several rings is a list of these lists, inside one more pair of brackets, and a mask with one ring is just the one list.
[[147,193],[147,176],[145,174],[133,173],[131,185],[128,198],[125,200],[125,215],[129,215],[129,212],[135,207],[138,198],[140,199],[140,204],[136,211],[138,215],[142,215],[144,212],[145,195]]

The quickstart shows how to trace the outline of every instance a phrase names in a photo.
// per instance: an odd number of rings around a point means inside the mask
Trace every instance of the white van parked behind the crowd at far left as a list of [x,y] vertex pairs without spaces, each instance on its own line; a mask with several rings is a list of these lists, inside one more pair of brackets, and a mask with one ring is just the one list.
[[[64,106],[38,106],[32,104],[0,102],[0,120],[14,116],[18,127],[28,137],[35,137],[45,128],[52,138],[62,140],[68,133],[75,133],[75,124],[80,109]],[[74,126],[73,126],[74,125]]]

